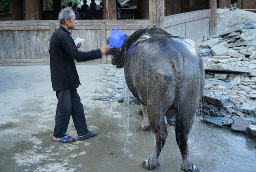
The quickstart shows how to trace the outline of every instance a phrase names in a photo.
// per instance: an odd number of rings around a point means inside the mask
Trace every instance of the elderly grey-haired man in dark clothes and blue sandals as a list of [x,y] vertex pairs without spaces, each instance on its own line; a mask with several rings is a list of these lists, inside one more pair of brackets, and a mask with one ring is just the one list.
[[70,143],[75,141],[74,138],[65,135],[70,115],[72,115],[78,140],[97,135],[96,132],[89,131],[86,125],[84,108],[76,90],[81,84],[74,59],[88,61],[101,58],[109,48],[104,45],[100,49],[90,52],[77,50],[82,44],[75,45],[70,36],[69,30],[75,29],[77,23],[75,14],[70,8],[65,8],[60,12],[59,22],[61,26],[52,34],[49,50],[52,87],[56,91],[58,99],[52,141]]

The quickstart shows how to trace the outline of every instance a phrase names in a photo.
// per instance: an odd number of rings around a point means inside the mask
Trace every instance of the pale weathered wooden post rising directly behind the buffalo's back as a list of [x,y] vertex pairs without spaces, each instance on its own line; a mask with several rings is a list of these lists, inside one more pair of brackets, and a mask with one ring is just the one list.
[[164,0],[149,0],[150,27],[164,28]]

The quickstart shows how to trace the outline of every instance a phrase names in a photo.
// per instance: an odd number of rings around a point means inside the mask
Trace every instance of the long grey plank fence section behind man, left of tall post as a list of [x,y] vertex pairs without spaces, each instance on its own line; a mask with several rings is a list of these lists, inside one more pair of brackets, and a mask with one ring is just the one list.
[[[49,62],[49,43],[59,28],[57,20],[0,21],[0,65],[27,65]],[[100,48],[115,28],[130,35],[149,27],[149,20],[79,20],[71,30],[73,39],[85,39],[80,51]],[[109,63],[110,57],[91,62]]]

